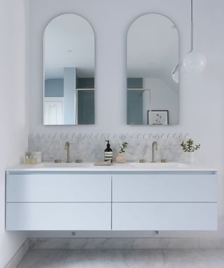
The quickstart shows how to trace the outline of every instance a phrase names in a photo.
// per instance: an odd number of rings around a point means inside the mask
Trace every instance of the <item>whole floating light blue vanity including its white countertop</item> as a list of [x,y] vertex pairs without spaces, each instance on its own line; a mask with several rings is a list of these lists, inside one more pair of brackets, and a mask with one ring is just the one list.
[[41,163],[6,171],[6,230],[217,230],[217,170]]

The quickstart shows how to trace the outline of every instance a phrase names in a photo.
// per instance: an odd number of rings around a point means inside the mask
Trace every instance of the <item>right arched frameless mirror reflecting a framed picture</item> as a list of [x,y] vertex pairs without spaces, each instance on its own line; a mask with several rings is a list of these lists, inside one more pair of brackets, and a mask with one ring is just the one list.
[[160,14],[142,15],[127,32],[127,124],[179,124],[179,34]]

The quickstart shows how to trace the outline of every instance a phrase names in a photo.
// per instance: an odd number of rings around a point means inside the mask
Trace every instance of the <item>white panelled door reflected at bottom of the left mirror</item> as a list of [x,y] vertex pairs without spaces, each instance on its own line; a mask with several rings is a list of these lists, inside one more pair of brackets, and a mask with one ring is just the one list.
[[62,125],[62,101],[44,102],[44,124]]

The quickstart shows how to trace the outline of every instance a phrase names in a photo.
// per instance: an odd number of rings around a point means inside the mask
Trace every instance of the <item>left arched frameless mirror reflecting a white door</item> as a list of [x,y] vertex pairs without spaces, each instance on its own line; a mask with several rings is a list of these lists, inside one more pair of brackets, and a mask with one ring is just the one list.
[[55,17],[43,35],[43,124],[94,124],[94,31],[75,14]]

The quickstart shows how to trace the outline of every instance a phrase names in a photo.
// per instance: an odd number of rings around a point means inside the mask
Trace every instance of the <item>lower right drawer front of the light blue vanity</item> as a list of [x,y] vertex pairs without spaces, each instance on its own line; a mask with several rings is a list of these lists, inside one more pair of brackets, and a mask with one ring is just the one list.
[[113,203],[112,230],[217,230],[216,203]]

